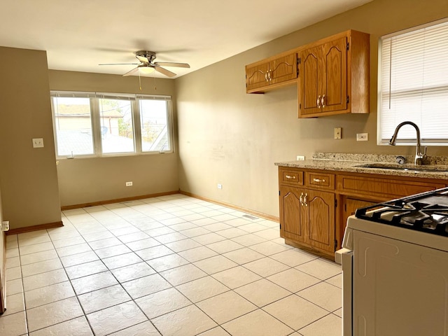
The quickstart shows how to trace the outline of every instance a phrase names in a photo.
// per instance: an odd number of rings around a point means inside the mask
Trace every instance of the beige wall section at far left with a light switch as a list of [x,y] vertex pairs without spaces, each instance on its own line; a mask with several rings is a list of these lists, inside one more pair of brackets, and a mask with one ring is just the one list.
[[0,78],[3,218],[11,229],[61,221],[46,52],[0,47]]

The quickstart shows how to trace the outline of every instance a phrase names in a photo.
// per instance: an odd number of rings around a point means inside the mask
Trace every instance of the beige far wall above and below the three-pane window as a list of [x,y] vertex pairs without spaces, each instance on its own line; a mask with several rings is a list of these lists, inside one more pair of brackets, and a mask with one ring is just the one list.
[[[175,99],[174,80],[170,79],[142,77],[140,91],[136,76],[55,70],[48,73],[51,90],[162,94]],[[59,160],[57,176],[61,205],[179,190],[177,161],[176,153]],[[133,186],[125,187],[127,181],[132,181]]]

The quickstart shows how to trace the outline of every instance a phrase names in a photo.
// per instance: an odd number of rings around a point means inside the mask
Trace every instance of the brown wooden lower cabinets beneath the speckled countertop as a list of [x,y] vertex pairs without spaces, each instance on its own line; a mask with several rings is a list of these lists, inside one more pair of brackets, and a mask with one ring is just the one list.
[[356,209],[444,188],[447,181],[279,167],[280,236],[334,260],[346,219]]

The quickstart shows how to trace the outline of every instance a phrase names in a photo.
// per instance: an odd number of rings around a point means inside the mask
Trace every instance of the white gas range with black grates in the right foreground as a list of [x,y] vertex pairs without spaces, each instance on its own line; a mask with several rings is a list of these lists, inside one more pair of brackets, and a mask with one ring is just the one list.
[[448,336],[448,188],[350,216],[342,249],[343,336]]

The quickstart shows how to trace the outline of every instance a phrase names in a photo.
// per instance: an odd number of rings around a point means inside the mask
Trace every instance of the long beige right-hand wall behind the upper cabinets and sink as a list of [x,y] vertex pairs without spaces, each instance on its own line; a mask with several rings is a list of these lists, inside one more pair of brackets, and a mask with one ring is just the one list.
[[[376,0],[176,79],[181,190],[278,216],[276,161],[316,151],[412,155],[410,146],[376,144],[377,42],[447,16],[447,0]],[[369,115],[299,120],[297,87],[245,93],[244,65],[347,29],[370,33]],[[333,139],[334,127],[342,127],[341,140]],[[356,142],[361,132],[369,141]],[[448,148],[430,147],[428,154],[448,155]]]

